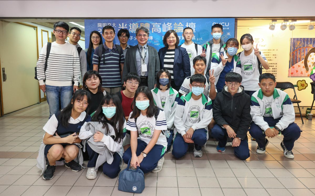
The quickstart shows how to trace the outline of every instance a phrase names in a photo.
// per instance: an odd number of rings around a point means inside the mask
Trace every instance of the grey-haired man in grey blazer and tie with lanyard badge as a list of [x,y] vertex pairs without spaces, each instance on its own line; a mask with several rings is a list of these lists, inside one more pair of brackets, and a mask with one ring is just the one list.
[[149,33],[149,30],[143,26],[136,29],[138,44],[127,50],[123,65],[122,84],[124,77],[128,73],[134,72],[140,77],[139,86],[147,86],[149,89],[155,87],[155,77],[160,70],[160,60],[157,50],[147,45]]

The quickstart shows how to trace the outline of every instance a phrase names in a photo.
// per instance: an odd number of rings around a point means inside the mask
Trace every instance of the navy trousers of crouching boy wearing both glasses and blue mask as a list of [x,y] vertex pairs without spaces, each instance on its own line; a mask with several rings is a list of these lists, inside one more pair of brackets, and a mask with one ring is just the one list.
[[[207,142],[207,130],[196,129],[192,134],[192,141],[195,143],[196,150],[201,150],[201,147]],[[172,154],[176,159],[184,156],[188,150],[188,143],[184,141],[183,136],[180,133],[176,133],[173,142]]]

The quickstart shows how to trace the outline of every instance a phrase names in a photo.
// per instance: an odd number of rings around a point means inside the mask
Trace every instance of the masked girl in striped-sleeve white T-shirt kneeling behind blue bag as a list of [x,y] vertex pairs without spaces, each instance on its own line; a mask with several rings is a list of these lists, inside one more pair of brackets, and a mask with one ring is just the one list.
[[124,162],[127,164],[131,158],[132,167],[139,166],[143,173],[152,171],[167,148],[166,137],[162,134],[162,130],[167,130],[167,124],[164,111],[154,105],[148,87],[139,87],[135,93],[127,130],[130,130],[131,146],[123,154]]

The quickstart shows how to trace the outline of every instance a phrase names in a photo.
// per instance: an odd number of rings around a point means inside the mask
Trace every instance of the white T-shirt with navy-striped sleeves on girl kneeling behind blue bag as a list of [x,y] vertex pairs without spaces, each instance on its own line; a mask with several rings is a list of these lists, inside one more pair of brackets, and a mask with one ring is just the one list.
[[[167,124],[165,119],[164,111],[160,110],[159,115],[157,116],[157,120],[155,121],[154,115],[151,118],[144,116],[141,114],[137,118],[137,122],[135,122],[134,118],[131,118],[133,112],[130,113],[129,119],[127,122],[127,130],[129,131],[138,131],[139,137],[138,139],[144,141],[149,144],[153,137],[154,130],[167,130]],[[167,140],[166,136],[163,133],[160,133],[160,136],[157,139],[157,143],[164,146],[162,151],[166,151],[167,148]]]

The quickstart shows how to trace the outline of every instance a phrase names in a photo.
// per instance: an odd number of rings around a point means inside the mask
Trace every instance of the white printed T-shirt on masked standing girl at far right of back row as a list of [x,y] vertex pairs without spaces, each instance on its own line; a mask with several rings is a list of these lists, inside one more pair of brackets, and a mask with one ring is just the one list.
[[[266,62],[267,59],[264,53],[261,52],[261,57]],[[242,85],[246,91],[258,91],[260,88],[259,83],[259,70],[258,70],[258,61],[255,51],[253,50],[248,56],[244,55],[244,52],[241,52],[239,59],[242,65]]]

